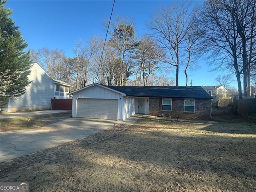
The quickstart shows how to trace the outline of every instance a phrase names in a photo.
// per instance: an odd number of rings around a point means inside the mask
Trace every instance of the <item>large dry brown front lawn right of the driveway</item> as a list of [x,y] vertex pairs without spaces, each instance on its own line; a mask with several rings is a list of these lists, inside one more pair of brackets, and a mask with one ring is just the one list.
[[10,170],[1,182],[43,192],[256,191],[255,124],[159,119],[66,145],[55,160]]

